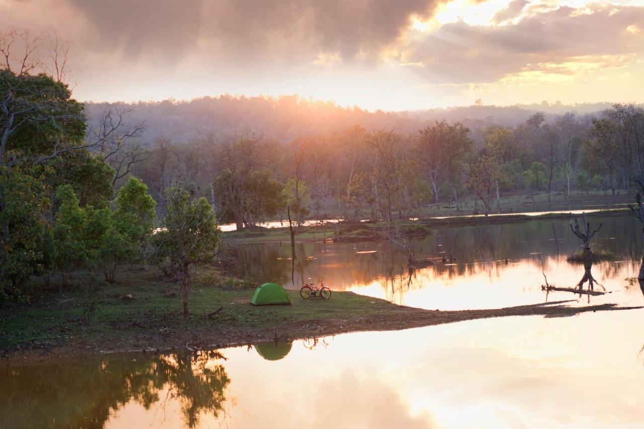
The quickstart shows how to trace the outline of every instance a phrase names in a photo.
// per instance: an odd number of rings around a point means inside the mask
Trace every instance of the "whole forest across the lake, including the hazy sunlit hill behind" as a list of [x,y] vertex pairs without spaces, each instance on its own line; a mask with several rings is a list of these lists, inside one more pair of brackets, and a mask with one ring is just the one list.
[[[160,110],[171,122],[189,109],[190,126],[156,128]],[[632,188],[644,156],[636,104],[584,114],[479,105],[443,111],[450,121],[297,97],[90,104],[88,112],[88,135],[110,133],[104,153],[116,182],[141,178],[160,214],[165,189],[184,187],[238,229],[283,219],[287,206],[301,224],[387,220],[438,204],[459,211],[464,197],[475,212],[495,213],[506,193],[615,195]]]

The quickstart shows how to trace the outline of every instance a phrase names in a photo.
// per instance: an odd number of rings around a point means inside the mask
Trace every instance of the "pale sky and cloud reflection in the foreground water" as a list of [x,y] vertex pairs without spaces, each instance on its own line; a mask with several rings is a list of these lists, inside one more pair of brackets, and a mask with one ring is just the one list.
[[[279,361],[223,350],[231,379],[202,427],[641,427],[643,310],[467,321],[296,341]],[[108,428],[173,427],[134,401]]]

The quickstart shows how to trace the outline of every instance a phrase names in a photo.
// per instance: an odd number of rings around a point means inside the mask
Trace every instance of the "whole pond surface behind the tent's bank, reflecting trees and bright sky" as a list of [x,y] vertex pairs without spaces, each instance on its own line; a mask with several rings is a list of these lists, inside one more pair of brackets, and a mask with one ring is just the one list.
[[[636,277],[640,244],[632,216],[593,218],[602,229],[592,248],[617,256],[615,262],[588,268],[615,302],[630,305],[637,297],[626,291],[625,278]],[[277,281],[290,289],[325,279],[332,289],[354,291],[393,303],[425,309],[457,310],[525,305],[544,300],[545,273],[550,283],[575,288],[584,272],[566,256],[580,251],[569,220],[437,229],[412,241],[418,259],[433,265],[410,272],[397,247],[389,243],[298,243],[294,281],[290,276],[289,243],[245,245],[242,266],[256,281]],[[443,260],[443,258],[445,258]],[[585,283],[589,279],[586,278]],[[619,293],[618,293],[619,292]],[[565,299],[564,292],[553,292]]]

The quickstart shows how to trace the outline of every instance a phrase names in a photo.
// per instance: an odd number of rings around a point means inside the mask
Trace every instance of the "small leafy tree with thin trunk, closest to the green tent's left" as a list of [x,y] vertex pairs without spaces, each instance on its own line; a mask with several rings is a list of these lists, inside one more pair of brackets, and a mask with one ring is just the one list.
[[220,230],[213,209],[205,198],[191,200],[187,191],[166,191],[167,215],[163,229],[151,237],[149,260],[181,285],[184,319],[188,319],[191,266],[211,263],[218,251]]

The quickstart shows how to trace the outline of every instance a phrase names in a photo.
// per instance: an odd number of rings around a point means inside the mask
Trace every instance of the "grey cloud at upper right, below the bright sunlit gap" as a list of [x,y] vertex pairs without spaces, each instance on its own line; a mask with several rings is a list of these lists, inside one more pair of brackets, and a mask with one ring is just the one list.
[[644,8],[618,12],[596,6],[592,14],[562,7],[524,17],[515,25],[446,24],[409,46],[406,62],[422,62],[419,73],[434,83],[493,82],[536,63],[575,57],[623,55],[644,50]]

